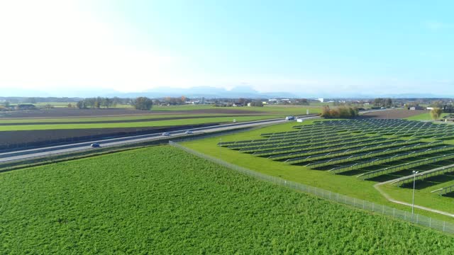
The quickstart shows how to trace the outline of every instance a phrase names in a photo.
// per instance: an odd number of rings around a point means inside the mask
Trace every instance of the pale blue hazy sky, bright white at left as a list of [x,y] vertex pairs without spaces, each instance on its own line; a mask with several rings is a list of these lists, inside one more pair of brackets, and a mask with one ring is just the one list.
[[0,89],[454,95],[453,10],[454,1],[0,0]]

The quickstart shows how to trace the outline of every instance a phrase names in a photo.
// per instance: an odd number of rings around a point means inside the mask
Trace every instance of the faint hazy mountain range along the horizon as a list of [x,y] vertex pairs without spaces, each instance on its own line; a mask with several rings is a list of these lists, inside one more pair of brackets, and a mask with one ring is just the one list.
[[362,94],[362,93],[349,93],[345,92],[342,94],[332,94],[325,91],[320,91],[319,94],[304,94],[301,92],[260,92],[249,86],[237,86],[233,89],[227,90],[223,88],[216,88],[211,86],[196,86],[192,88],[170,88],[170,87],[158,87],[143,92],[130,92],[123,93],[115,91],[113,89],[91,89],[91,90],[65,90],[47,92],[40,91],[38,89],[1,89],[0,96],[22,96],[22,97],[95,97],[95,96],[118,96],[121,98],[135,98],[138,96],[147,96],[150,98],[162,98],[166,96],[179,97],[186,96],[187,98],[377,98],[377,97],[389,97],[389,98],[454,98],[453,95],[436,95],[436,94]]

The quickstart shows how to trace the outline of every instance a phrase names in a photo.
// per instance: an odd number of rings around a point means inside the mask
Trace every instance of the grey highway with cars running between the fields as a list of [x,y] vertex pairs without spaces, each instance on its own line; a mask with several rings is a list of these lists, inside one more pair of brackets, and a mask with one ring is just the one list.
[[[302,116],[300,118],[310,119],[310,118],[319,118],[318,116],[309,115],[309,116]],[[238,128],[252,128],[258,125],[272,125],[272,124],[279,124],[279,123],[286,123],[288,120],[282,119],[272,119],[272,120],[258,120],[258,121],[250,121],[245,123],[232,123],[226,125],[215,125],[210,127],[204,128],[194,128],[191,129],[193,132],[192,135],[199,135],[201,133],[211,133],[211,132],[219,132],[219,131],[227,131],[227,130],[235,130]],[[191,137],[192,135],[186,135],[184,132],[187,130],[178,130],[168,132],[170,136],[163,136],[161,133],[159,134],[150,134],[150,135],[135,135],[131,137],[120,137],[120,138],[111,138],[111,139],[104,139],[104,140],[93,140],[90,142],[80,142],[74,143],[70,145],[58,145],[52,147],[42,147],[37,149],[24,149],[18,150],[15,152],[4,152],[0,153],[0,163],[5,162],[14,162],[14,161],[21,161],[24,159],[33,159],[38,157],[50,157],[57,154],[67,154],[71,152],[80,152],[87,149],[96,150],[97,148],[92,148],[90,145],[96,142],[99,143],[101,147],[114,147],[114,146],[121,146],[127,145],[131,143],[138,143],[138,142],[149,142],[153,140],[163,140],[169,139],[169,137]]]

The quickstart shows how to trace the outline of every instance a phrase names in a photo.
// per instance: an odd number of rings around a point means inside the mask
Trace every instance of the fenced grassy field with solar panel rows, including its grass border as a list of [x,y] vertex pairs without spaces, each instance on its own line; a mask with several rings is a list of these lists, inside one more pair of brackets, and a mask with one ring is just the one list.
[[[373,187],[375,183],[408,176],[416,166],[428,170],[454,164],[452,125],[370,119],[302,124],[275,125],[184,145],[265,174],[394,207],[399,205],[388,202]],[[444,186],[449,181],[432,184]],[[416,205],[454,213],[452,198],[428,189],[416,191]],[[407,202],[411,189],[399,188],[399,193],[391,195],[406,197]],[[418,213],[454,222],[452,217]]]

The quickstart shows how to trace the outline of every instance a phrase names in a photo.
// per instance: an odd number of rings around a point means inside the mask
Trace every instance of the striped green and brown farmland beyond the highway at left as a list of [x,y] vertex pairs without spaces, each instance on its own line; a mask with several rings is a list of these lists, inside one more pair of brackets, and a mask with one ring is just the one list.
[[[284,118],[286,115],[305,115],[307,107],[214,107],[206,105],[155,106],[151,111],[133,109],[71,109],[54,108],[37,111],[0,113],[0,146],[5,143],[36,142],[60,138],[99,135],[102,132],[130,132],[198,125]],[[311,112],[319,111],[314,108]]]

